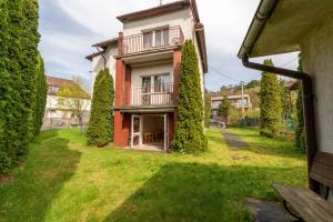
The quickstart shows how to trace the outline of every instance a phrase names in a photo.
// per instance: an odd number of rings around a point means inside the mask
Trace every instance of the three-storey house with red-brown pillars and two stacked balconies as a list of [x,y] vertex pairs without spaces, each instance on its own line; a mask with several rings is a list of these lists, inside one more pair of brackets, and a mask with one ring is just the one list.
[[114,144],[170,149],[176,111],[181,47],[193,41],[202,92],[208,71],[204,27],[195,0],[181,0],[117,17],[119,37],[92,47],[94,79],[104,67],[115,82]]

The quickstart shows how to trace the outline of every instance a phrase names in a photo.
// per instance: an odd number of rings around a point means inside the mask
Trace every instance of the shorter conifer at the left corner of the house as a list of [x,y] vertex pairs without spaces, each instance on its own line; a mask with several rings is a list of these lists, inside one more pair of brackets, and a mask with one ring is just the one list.
[[93,87],[91,114],[87,131],[88,144],[104,147],[113,141],[113,79],[109,69],[104,69],[97,75]]

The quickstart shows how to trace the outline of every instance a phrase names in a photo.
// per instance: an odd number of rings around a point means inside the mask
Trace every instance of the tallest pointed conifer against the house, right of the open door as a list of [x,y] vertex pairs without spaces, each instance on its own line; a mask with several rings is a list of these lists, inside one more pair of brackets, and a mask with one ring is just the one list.
[[198,54],[191,40],[182,48],[178,98],[178,122],[172,148],[179,152],[206,150],[203,134],[203,95],[200,84]]

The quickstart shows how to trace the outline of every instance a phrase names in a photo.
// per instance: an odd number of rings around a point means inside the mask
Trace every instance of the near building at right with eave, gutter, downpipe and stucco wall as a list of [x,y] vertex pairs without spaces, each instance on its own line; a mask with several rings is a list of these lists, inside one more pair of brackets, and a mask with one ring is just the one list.
[[[310,189],[333,201],[333,2],[261,0],[239,52],[251,69],[300,79]],[[303,71],[266,67],[250,58],[301,51]]]

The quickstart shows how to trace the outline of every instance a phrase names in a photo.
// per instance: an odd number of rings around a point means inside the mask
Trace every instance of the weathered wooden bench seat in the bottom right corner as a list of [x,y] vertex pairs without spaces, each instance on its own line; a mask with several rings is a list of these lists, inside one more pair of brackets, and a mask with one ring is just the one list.
[[305,221],[333,221],[333,204],[314,192],[301,188],[274,184],[273,188]]

